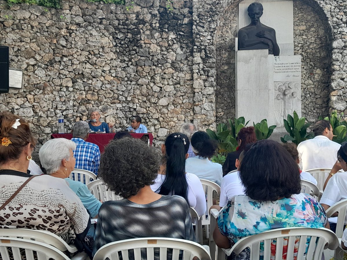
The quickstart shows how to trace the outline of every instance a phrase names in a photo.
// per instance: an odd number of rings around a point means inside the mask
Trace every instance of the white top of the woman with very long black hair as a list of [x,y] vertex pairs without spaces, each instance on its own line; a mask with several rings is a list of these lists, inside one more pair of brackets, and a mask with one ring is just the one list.
[[[165,180],[165,175],[158,174],[158,176],[154,180],[154,184],[151,185],[152,191],[156,192],[160,188],[161,184],[163,184],[164,180]],[[205,191],[202,188],[202,184],[199,178],[193,173],[187,172],[186,180],[188,184],[189,207],[194,208],[197,214],[199,216],[202,216],[206,212],[206,197],[205,197]]]

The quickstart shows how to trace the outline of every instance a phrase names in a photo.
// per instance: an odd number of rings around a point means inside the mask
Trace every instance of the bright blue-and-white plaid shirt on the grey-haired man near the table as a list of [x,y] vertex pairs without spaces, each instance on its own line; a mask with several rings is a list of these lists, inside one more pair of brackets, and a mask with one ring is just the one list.
[[[73,150],[74,157],[76,158],[75,168],[88,170],[95,173],[95,175],[98,175],[100,165],[99,146],[92,144],[91,142],[86,142],[82,138],[74,137],[71,141],[74,141],[76,144],[76,149]],[[78,181],[81,181],[79,174]]]

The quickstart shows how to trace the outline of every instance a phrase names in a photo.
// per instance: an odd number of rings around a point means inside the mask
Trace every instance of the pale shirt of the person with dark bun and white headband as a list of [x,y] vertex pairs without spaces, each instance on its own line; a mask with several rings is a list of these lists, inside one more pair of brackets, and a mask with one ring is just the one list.
[[194,173],[199,179],[213,181],[219,186],[223,177],[222,165],[201,156],[186,159],[186,172]]

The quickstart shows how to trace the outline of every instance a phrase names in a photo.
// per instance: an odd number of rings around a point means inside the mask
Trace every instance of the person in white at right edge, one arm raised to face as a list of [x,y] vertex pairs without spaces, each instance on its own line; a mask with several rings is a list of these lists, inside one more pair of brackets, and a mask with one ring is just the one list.
[[[347,199],[347,142],[341,144],[337,152],[337,162],[334,164],[331,173],[325,181],[325,189],[321,200],[319,201],[323,208],[327,210],[336,202]],[[339,170],[344,172],[338,172]],[[333,215],[329,218],[330,229],[336,231],[337,218]],[[345,224],[347,221],[345,220]]]

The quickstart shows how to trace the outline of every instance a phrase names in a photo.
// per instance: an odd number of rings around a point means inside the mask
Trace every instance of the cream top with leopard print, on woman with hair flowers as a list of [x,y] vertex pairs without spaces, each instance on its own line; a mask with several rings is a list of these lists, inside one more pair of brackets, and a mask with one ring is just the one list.
[[[0,205],[31,175],[0,171]],[[87,228],[89,215],[63,179],[42,175],[29,181],[0,211],[0,228],[50,231],[67,243]]]

